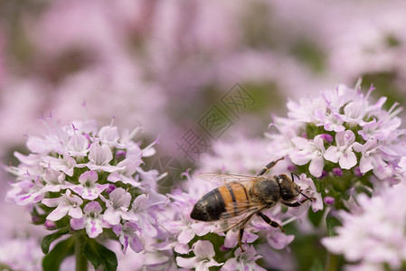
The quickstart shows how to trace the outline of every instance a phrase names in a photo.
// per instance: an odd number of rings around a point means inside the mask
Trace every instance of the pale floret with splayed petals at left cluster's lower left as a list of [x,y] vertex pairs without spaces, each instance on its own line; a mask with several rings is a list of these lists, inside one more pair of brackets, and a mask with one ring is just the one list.
[[57,221],[61,220],[67,214],[73,219],[80,219],[83,216],[80,205],[83,200],[77,195],[71,193],[71,190],[66,190],[60,198],[43,199],[42,203],[48,207],[56,207],[55,210],[46,217],[47,220]]

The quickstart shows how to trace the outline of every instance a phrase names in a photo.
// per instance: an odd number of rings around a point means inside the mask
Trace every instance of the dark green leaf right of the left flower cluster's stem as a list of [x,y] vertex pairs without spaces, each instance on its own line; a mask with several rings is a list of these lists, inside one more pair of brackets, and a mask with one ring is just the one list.
[[94,239],[88,239],[84,254],[95,269],[101,269],[103,271],[114,271],[117,269],[118,262],[116,253],[99,244]]

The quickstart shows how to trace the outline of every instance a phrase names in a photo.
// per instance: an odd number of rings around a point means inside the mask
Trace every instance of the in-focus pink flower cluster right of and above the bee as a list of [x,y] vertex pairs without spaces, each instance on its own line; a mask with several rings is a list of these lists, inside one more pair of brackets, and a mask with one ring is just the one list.
[[300,173],[324,178],[317,190],[336,199],[347,198],[357,182],[369,185],[370,176],[397,182],[395,167],[406,154],[397,117],[402,108],[385,110],[386,98],[372,103],[372,92],[339,85],[317,98],[289,101],[288,118],[275,117],[272,124],[279,129],[269,135],[273,152],[288,155]]

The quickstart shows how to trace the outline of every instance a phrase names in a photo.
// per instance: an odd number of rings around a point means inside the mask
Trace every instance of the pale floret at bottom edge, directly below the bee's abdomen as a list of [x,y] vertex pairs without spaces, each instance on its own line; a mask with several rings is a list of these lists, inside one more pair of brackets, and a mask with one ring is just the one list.
[[215,252],[210,241],[198,240],[192,249],[194,250],[194,257],[176,257],[178,266],[187,269],[195,268],[196,271],[209,270],[210,266],[222,266],[212,259]]

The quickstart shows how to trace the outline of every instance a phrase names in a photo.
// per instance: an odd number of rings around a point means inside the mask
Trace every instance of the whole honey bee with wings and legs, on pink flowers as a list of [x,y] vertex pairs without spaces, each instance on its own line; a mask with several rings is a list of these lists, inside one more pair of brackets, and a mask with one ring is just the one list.
[[[190,217],[199,221],[222,221],[222,231],[239,229],[238,243],[242,249],[244,227],[254,215],[258,215],[271,227],[285,230],[276,221],[270,220],[263,210],[282,203],[288,207],[297,207],[305,201],[314,201],[302,193],[294,182],[295,173],[263,176],[282,158],[264,166],[256,176],[244,176],[224,173],[203,173],[196,177],[202,180],[222,181],[224,184],[194,204]],[[296,175],[297,176],[297,175]],[[305,199],[297,201],[299,194]]]

